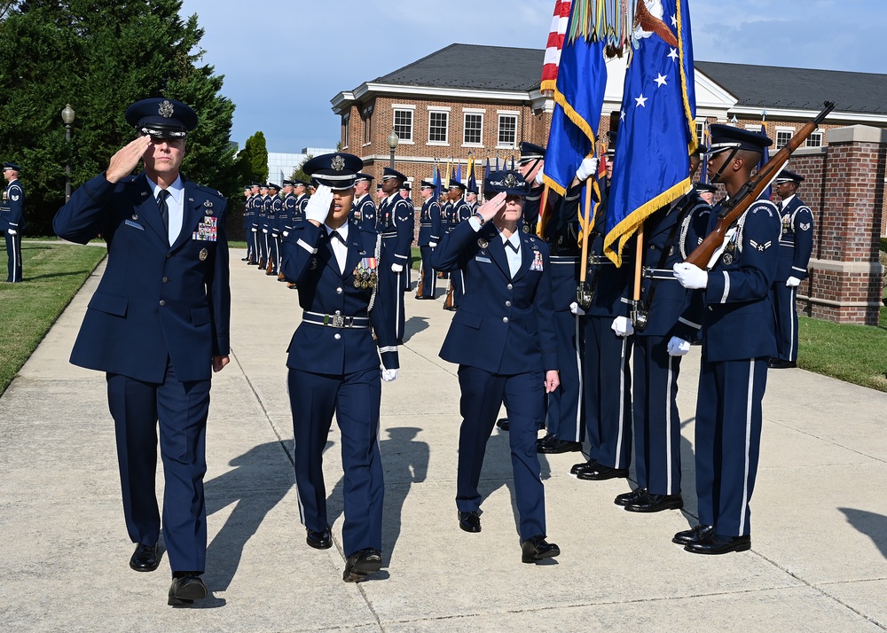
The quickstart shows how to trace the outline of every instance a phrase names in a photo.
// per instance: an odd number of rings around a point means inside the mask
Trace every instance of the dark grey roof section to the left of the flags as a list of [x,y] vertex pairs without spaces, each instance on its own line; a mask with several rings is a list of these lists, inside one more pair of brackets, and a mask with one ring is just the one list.
[[545,57],[541,49],[450,44],[374,82],[529,92],[542,83]]

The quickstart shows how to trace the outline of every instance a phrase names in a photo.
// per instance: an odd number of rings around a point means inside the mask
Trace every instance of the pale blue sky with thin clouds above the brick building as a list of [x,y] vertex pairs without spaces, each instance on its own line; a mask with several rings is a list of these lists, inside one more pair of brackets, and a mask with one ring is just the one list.
[[[269,152],[300,152],[339,140],[330,106],[337,93],[451,43],[544,48],[554,4],[184,0],[182,14],[197,14],[205,31],[202,62],[224,74],[222,93],[237,106],[232,140],[242,146],[262,130]],[[695,59],[863,73],[887,68],[883,0],[689,0],[689,8]]]

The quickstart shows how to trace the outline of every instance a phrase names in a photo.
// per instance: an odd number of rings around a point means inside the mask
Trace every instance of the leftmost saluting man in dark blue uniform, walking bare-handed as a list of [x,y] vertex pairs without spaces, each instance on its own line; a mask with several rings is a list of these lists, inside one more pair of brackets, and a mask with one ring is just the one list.
[[[105,371],[114,418],[123,516],[136,543],[130,567],[160,562],[155,495],[158,424],[163,460],[163,541],[173,581],[169,605],[205,598],[206,430],[213,371],[228,363],[225,199],[179,173],[197,114],[150,98],[126,111],[138,137],[85,183],[53,220],[60,238],[105,238],[105,274],[71,362]],[[130,176],[139,160],[145,171]]]

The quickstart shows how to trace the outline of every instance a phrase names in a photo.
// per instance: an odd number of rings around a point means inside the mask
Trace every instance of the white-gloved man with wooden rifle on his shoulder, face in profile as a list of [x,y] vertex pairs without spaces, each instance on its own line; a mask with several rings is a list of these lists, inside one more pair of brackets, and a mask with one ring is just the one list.
[[[709,180],[734,196],[749,181],[764,147],[757,132],[711,126]],[[718,218],[711,212],[709,229]],[[696,397],[695,464],[699,525],[673,541],[696,554],[751,548],[749,502],[760,455],[767,361],[776,353],[770,288],[779,264],[781,222],[768,199],[751,204],[726,233],[709,270],[674,266],[681,285],[703,297],[703,355]]]

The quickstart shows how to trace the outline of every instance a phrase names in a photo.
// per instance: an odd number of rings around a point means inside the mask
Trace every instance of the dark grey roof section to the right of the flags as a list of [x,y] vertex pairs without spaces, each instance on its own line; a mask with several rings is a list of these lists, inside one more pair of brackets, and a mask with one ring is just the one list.
[[839,70],[751,66],[695,60],[695,69],[739,99],[739,106],[819,110],[834,101],[838,112],[887,113],[887,75]]

